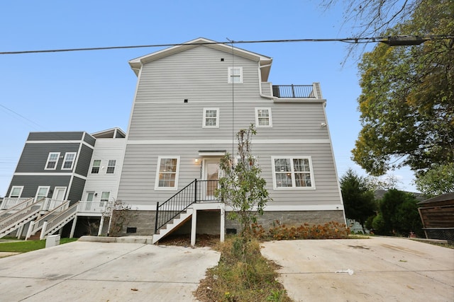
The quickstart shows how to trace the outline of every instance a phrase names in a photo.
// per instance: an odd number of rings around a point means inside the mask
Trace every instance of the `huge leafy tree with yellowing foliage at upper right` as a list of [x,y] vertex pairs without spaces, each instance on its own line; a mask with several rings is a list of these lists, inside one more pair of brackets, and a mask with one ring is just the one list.
[[385,35],[451,35],[411,47],[379,44],[359,64],[362,129],[353,160],[372,175],[454,161],[454,1],[414,1]]

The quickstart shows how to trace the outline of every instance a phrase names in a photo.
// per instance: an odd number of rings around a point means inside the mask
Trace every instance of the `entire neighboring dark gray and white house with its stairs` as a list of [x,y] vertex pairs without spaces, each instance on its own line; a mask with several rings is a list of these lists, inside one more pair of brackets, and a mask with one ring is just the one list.
[[[41,239],[107,233],[104,218],[116,198],[125,137],[119,128],[31,132],[0,203],[0,238],[14,231]],[[78,222],[80,216],[85,219]]]

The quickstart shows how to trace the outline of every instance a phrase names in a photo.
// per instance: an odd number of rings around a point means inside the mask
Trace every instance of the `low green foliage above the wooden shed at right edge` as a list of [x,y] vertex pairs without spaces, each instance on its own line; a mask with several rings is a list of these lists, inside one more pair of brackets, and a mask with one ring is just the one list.
[[416,187],[431,196],[454,192],[454,163],[433,165],[424,173],[419,173],[415,180]]

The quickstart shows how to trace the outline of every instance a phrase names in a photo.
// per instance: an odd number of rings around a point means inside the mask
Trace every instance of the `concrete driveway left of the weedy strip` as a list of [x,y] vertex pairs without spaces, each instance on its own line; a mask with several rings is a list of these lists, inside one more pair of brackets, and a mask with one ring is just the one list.
[[208,248],[82,242],[0,259],[0,301],[195,301],[220,254]]

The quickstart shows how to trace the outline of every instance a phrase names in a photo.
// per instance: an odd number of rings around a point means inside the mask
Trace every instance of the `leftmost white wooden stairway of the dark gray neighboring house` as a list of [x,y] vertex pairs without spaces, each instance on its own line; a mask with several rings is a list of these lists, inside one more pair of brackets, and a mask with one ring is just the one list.
[[42,207],[43,199],[35,201],[30,198],[3,211],[0,216],[0,238],[36,219]]

